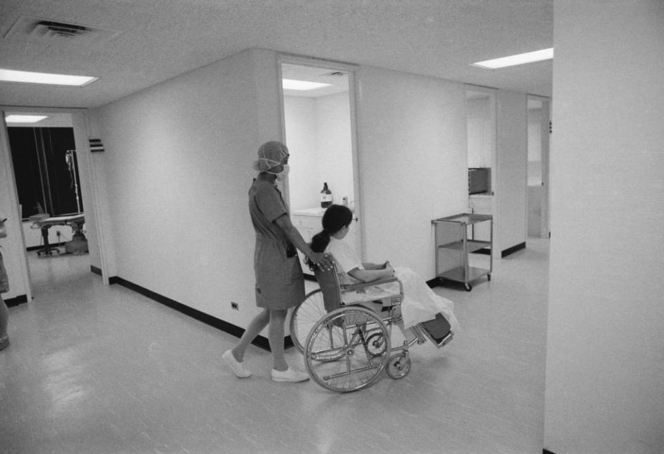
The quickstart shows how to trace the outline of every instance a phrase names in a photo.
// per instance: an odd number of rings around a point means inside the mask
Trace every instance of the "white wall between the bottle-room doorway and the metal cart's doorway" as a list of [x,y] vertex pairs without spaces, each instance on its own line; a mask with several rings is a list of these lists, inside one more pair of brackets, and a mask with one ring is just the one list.
[[371,67],[359,79],[365,258],[433,278],[432,219],[468,209],[465,87]]

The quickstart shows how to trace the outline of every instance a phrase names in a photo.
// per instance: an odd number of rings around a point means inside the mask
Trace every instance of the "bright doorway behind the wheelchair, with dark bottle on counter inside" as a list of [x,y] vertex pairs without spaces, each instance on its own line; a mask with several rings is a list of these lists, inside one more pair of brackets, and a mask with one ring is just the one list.
[[[284,140],[291,152],[286,194],[306,242],[322,229],[322,191],[355,216],[347,236],[362,254],[353,68],[282,58]],[[306,271],[308,268],[304,267]]]

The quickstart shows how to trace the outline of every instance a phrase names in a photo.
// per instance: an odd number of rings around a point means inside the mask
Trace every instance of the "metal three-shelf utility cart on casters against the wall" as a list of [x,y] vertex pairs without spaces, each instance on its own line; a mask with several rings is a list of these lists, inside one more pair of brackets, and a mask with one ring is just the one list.
[[[436,276],[438,278],[461,282],[468,292],[472,290],[471,281],[485,275],[489,281],[491,280],[493,216],[462,213],[434,219],[432,223],[436,234]],[[488,261],[488,265],[486,267],[471,266],[470,254],[481,249],[484,249],[482,252],[488,252],[488,259],[485,260]],[[474,262],[473,265],[477,265]]]

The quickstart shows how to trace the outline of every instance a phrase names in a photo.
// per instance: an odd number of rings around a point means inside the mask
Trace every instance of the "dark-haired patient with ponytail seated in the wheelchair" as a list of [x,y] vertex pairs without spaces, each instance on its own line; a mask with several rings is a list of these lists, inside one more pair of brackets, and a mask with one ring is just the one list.
[[[395,276],[403,286],[401,316],[403,325],[399,328],[408,329],[418,323],[434,321],[436,314],[443,314],[450,324],[452,332],[459,329],[459,322],[454,316],[454,303],[434,293],[424,279],[412,269],[392,267],[385,263],[362,263],[353,248],[344,241],[353,220],[353,213],[343,205],[331,205],[323,215],[323,230],[313,236],[311,249],[315,252],[326,252],[333,256],[339,281],[352,284],[378,281],[382,278]],[[394,288],[396,287],[396,289]],[[344,303],[360,303],[375,301],[381,296],[399,292],[398,283],[387,283],[368,287],[364,292],[346,295]]]

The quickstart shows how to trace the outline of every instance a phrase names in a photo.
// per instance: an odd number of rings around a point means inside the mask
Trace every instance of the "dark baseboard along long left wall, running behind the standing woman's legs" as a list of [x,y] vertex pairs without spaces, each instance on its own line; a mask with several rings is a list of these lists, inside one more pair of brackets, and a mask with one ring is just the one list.
[[[147,296],[149,299],[154,300],[157,303],[163,304],[168,308],[181,312],[182,314],[192,317],[192,319],[201,321],[206,325],[217,328],[218,330],[228,332],[228,334],[232,334],[235,337],[241,337],[244,332],[243,328],[240,328],[239,326],[233,325],[232,323],[228,323],[227,321],[223,321],[221,319],[217,319],[216,317],[210,314],[205,314],[205,312],[201,312],[200,310],[190,308],[183,303],[179,303],[178,301],[167,298],[166,296],[160,295],[145,287],[141,287],[140,285],[131,281],[127,281],[127,279],[123,279],[119,276],[111,276],[109,278],[109,284],[122,285],[122,287],[133,290],[133,292],[142,294],[143,296]],[[268,352],[270,351],[270,343],[266,337],[259,335],[252,343],[257,347],[267,350]],[[291,346],[293,346],[293,341],[291,340],[291,337],[288,336],[284,339],[284,347],[288,348]]]

